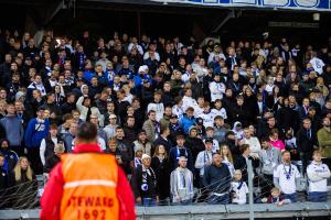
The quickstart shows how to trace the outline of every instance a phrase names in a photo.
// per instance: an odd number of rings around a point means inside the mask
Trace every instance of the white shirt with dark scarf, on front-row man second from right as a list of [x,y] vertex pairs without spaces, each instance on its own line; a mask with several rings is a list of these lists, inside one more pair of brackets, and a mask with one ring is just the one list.
[[300,178],[297,166],[292,164],[289,166],[280,164],[274,170],[274,177],[279,178],[280,190],[284,194],[295,194],[297,191],[296,178]]

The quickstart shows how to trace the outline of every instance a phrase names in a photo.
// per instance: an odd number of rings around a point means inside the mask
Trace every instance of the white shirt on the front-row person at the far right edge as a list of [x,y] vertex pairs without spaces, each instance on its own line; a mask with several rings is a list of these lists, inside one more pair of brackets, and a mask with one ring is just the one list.
[[330,169],[325,164],[311,163],[307,167],[309,179],[309,191],[328,191],[328,178],[330,178]]

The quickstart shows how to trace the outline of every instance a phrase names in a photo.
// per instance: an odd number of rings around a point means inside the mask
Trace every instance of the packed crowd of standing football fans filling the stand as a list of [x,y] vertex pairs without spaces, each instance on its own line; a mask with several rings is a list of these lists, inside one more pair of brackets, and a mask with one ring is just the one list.
[[327,200],[331,37],[0,34],[1,191],[46,177],[89,121],[137,205],[245,204],[248,160],[256,202]]

